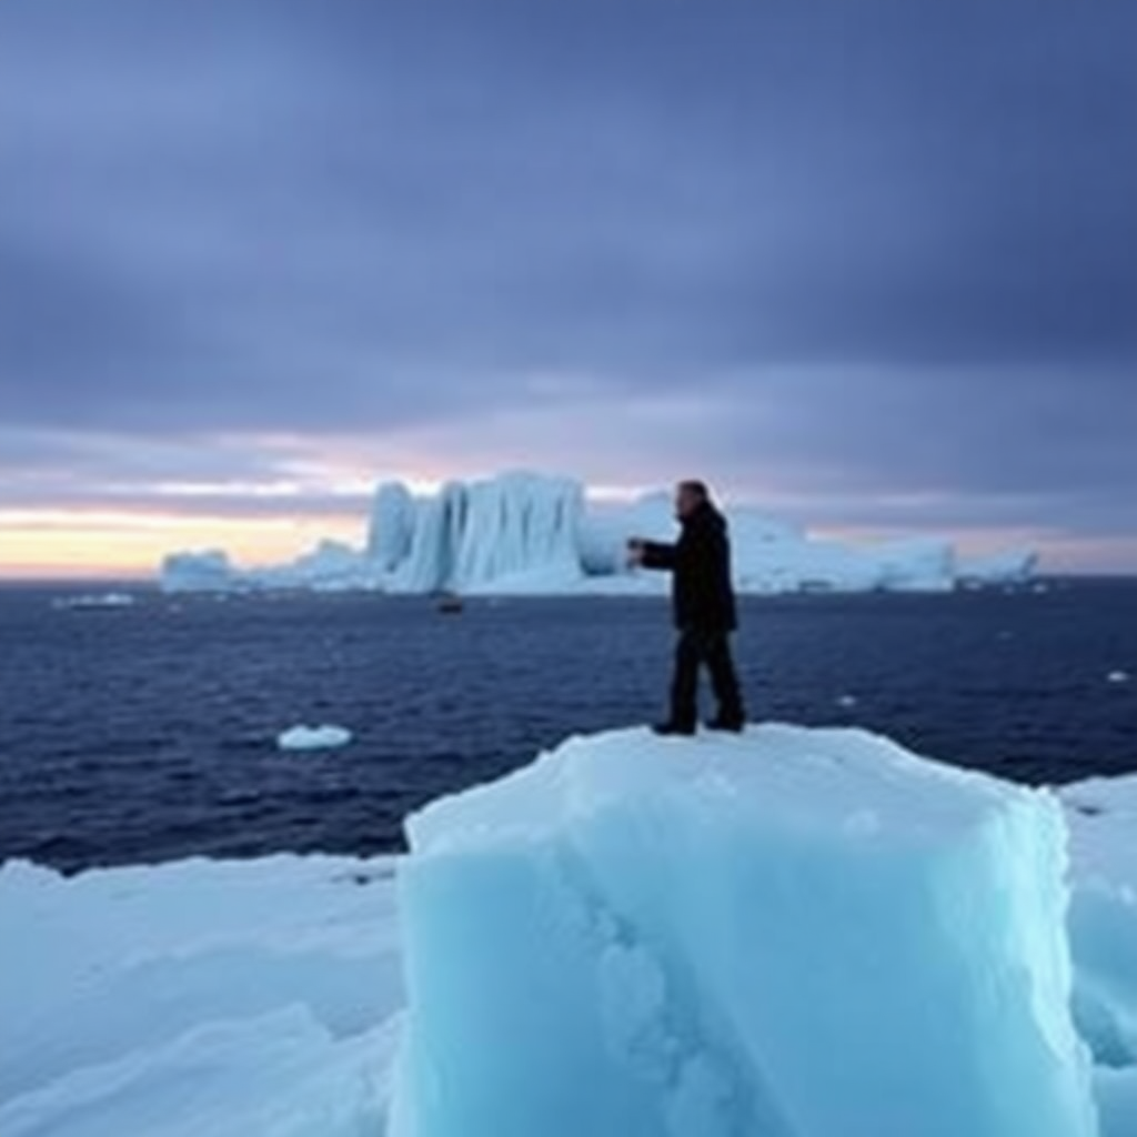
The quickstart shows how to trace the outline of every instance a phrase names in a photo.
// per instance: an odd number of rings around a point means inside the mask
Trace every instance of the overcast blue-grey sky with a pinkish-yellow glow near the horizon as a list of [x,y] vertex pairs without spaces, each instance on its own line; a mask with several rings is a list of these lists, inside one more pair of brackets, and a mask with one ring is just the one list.
[[9,553],[518,465],[1137,571],[1137,0],[3,0]]

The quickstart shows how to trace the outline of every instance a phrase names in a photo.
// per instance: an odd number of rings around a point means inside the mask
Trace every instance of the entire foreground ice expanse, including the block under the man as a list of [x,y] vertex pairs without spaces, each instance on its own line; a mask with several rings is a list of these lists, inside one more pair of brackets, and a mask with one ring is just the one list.
[[412,820],[397,1074],[393,858],[8,864],[0,1134],[1134,1137],[1137,779],[1062,797],[1093,1084],[1053,797],[634,731]]

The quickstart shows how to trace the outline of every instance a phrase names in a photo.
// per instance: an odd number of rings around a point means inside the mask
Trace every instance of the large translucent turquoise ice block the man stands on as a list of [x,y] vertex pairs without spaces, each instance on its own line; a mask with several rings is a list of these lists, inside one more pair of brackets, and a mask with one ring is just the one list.
[[396,1137],[1090,1137],[1046,791],[860,731],[572,739],[407,823]]

